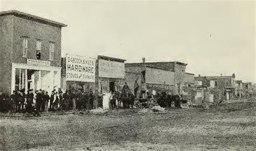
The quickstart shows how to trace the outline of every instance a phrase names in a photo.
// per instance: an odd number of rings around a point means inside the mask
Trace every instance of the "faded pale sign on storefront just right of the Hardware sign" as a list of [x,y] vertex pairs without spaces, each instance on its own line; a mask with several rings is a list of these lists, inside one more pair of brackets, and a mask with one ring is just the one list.
[[124,78],[123,62],[99,59],[99,77]]

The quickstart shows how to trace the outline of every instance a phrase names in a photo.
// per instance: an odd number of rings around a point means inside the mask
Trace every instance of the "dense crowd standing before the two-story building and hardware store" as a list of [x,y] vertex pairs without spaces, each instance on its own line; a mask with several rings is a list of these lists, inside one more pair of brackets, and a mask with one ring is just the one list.
[[25,92],[25,89],[15,90],[9,97],[0,95],[0,112],[11,113],[33,113],[39,116],[39,112],[45,111],[68,111],[72,109],[84,110],[93,108],[95,96],[92,91],[85,92],[83,89],[52,90],[49,95],[47,91],[33,89]]

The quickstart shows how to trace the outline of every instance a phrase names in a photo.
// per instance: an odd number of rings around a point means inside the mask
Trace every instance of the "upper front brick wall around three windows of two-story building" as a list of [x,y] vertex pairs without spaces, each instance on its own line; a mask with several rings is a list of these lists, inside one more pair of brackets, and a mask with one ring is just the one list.
[[41,60],[49,61],[49,44],[55,44],[51,66],[61,67],[61,28],[54,27],[24,18],[14,17],[14,52],[13,62],[26,63],[23,55],[23,39],[28,37],[27,58],[36,59],[36,41],[42,41]]

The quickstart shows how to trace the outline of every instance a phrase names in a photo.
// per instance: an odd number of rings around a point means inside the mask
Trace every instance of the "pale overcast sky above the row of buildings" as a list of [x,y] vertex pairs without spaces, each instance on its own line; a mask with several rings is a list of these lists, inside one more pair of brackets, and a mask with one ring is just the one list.
[[63,56],[181,61],[196,76],[256,81],[254,1],[2,1],[0,9],[68,24]]

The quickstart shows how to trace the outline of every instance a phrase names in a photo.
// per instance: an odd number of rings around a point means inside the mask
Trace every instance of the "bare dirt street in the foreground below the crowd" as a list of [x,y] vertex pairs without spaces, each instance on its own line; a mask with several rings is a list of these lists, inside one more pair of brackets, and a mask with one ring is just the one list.
[[155,113],[0,117],[0,149],[255,150],[256,101]]

